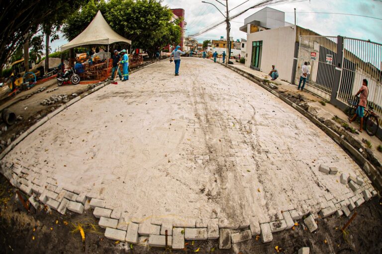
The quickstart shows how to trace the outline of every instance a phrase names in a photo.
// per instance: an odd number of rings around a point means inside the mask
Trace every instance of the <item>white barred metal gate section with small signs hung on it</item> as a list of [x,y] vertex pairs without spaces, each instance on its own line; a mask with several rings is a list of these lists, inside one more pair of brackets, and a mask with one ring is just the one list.
[[318,89],[328,98],[332,92],[337,57],[337,37],[334,36],[300,36],[296,80],[301,76],[301,66],[308,63],[310,74],[307,76],[305,87]]

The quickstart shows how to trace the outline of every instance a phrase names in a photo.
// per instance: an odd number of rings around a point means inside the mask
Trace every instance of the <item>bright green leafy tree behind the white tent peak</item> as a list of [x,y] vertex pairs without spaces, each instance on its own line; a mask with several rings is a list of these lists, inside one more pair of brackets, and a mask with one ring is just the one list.
[[62,28],[72,40],[93,20],[100,10],[110,27],[132,40],[133,48],[153,55],[158,48],[180,42],[179,20],[171,22],[173,12],[161,0],[90,0],[81,11],[70,15]]

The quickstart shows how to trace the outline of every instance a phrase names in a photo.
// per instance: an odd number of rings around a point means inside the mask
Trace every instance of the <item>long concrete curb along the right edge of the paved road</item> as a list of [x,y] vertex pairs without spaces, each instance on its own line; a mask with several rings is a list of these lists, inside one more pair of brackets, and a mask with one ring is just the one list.
[[[241,69],[235,68],[229,64],[221,64],[225,67],[235,71],[236,73],[239,73],[245,78],[248,78],[249,80],[255,82],[257,85],[261,86],[262,88],[266,89],[268,92],[272,93],[276,97],[280,98],[282,101],[284,101],[286,104],[297,110],[301,115],[309,119],[313,124],[315,124],[317,127],[319,127],[321,130],[323,130],[330,138],[332,138],[337,144],[339,144],[343,149],[346,149],[352,156],[355,162],[360,165],[360,167],[364,170],[365,167],[369,167],[369,171],[365,171],[365,173],[368,175],[368,177],[373,181],[373,184],[377,187],[377,189],[381,192],[382,191],[382,176],[381,173],[377,170],[377,168],[374,167],[356,148],[354,148],[351,144],[349,144],[345,139],[341,138],[341,136],[332,130],[331,128],[327,127],[323,123],[321,123],[314,115],[310,114],[309,112],[305,111],[303,108],[299,107],[297,104],[293,103],[292,101],[288,100],[286,97],[280,95],[278,92],[274,91],[272,88],[264,85],[262,83],[262,78],[256,77],[253,74],[250,74],[248,72],[245,72]],[[367,165],[367,166],[365,166]]]

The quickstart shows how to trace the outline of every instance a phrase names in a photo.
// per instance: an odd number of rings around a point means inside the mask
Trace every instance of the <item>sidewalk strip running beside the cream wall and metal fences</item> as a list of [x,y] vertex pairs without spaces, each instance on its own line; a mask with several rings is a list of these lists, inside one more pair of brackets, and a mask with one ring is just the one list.
[[[345,125],[345,123],[347,123],[349,127],[353,127],[355,129],[360,127],[357,121],[349,124],[347,115],[342,110],[336,108],[335,106],[331,105],[329,102],[323,100],[322,98],[314,95],[313,93],[307,90],[304,90],[304,91],[297,90],[297,85],[292,85],[280,79],[271,81],[271,77],[267,73],[251,69],[247,66],[244,66],[243,64],[234,63],[233,65],[230,64],[229,66],[250,74],[256,80],[264,84],[270,83],[270,86],[274,89],[277,89],[276,91],[279,94],[283,94],[284,97],[287,97],[289,100],[293,101],[298,106],[305,106],[304,108],[310,114],[316,116],[317,119],[322,119],[323,121],[336,122],[340,126],[342,126],[343,124]],[[323,103],[324,101],[325,103]],[[325,105],[322,105],[320,102],[322,102]],[[334,120],[335,116],[338,118],[337,121]],[[344,127],[342,128],[345,130]],[[369,136],[366,133],[366,130],[364,130],[362,133],[359,133],[359,132],[352,133],[350,131],[346,131],[346,132],[348,135],[350,135],[355,140],[358,140],[359,143],[363,145],[363,148],[362,148],[363,151],[367,151],[368,153],[372,151],[372,154],[375,156],[375,158],[378,159],[378,162],[375,162],[373,164],[375,165],[377,164],[376,166],[380,167],[381,165],[380,162],[382,162],[382,152],[378,151],[377,147],[379,145],[382,145],[382,141],[377,136]],[[372,146],[367,147],[363,139],[369,140]],[[354,144],[352,145],[356,147],[357,149],[360,148],[359,145],[354,145]]]

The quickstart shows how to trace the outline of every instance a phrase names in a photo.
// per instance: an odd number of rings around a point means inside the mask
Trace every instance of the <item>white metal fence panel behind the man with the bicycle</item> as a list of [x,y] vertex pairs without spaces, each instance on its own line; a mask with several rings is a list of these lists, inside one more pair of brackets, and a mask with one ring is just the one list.
[[368,104],[382,115],[382,44],[344,38],[342,73],[337,99],[347,103],[368,80]]

